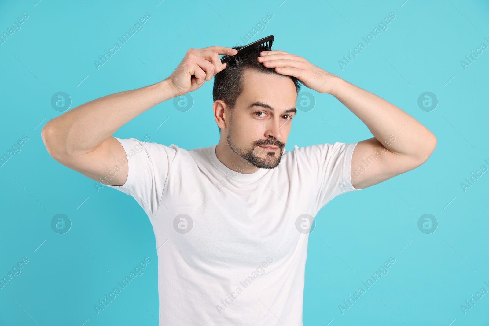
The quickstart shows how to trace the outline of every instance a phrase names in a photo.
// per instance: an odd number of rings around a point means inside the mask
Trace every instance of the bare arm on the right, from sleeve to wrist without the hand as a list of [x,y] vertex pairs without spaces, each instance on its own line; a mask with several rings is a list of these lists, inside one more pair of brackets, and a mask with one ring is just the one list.
[[403,110],[335,75],[330,82],[330,94],[375,136],[358,142],[353,151],[355,188],[366,188],[417,168],[435,150],[435,135]]

